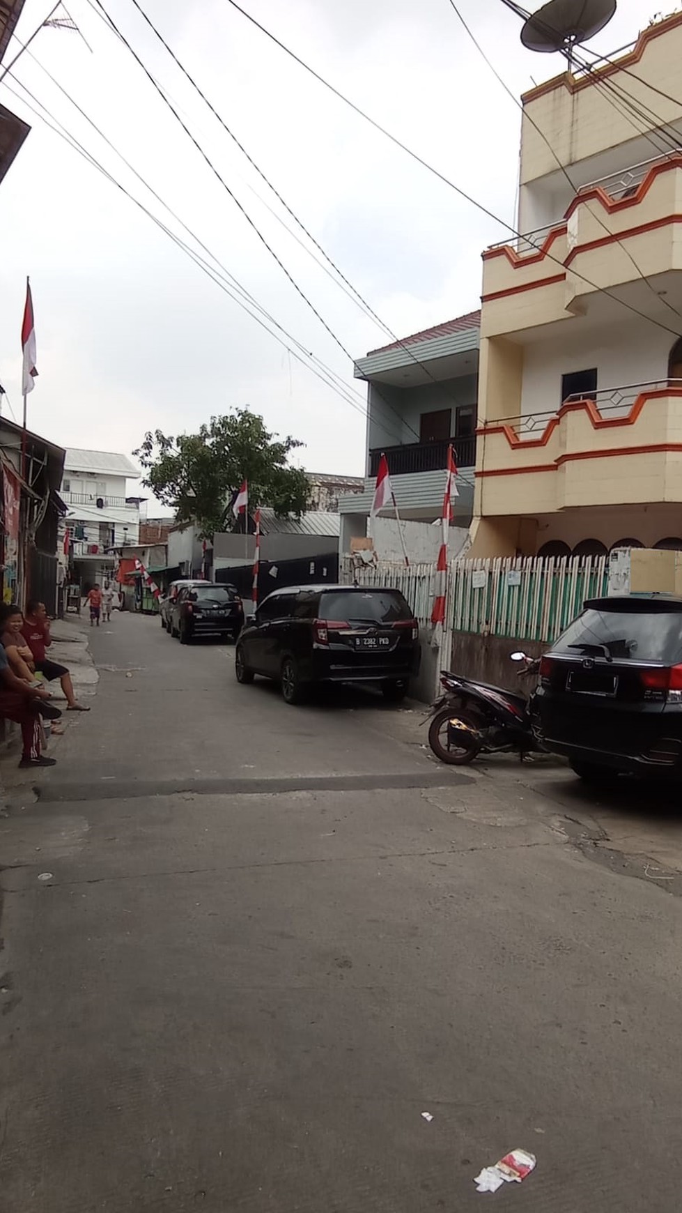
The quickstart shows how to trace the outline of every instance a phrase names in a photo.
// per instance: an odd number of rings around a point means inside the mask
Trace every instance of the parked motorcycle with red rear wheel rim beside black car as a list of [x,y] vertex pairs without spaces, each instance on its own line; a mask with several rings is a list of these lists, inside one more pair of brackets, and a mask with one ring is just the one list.
[[[540,667],[539,657],[533,660],[525,653],[510,657],[523,662],[520,677],[529,677]],[[543,748],[534,729],[534,693],[525,699],[447,670],[441,671],[441,685],[445,694],[429,712],[429,745],[441,762],[464,767],[480,753],[510,752],[517,752],[523,762],[527,753]]]

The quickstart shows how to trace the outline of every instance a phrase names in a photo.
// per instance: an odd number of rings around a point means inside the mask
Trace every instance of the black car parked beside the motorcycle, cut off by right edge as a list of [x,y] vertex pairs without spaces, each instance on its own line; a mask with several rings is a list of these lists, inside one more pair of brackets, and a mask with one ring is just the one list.
[[682,598],[594,598],[540,662],[549,750],[586,780],[682,778]]

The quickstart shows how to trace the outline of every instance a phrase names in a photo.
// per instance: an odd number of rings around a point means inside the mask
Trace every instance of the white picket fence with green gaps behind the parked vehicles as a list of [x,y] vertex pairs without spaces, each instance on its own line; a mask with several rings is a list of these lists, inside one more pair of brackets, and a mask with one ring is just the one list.
[[[420,623],[431,617],[432,564],[379,563],[357,568],[348,562],[348,580],[392,586],[411,604]],[[498,557],[453,560],[448,566],[448,630],[510,636],[520,640],[555,639],[579,614],[586,598],[607,593],[608,557]]]

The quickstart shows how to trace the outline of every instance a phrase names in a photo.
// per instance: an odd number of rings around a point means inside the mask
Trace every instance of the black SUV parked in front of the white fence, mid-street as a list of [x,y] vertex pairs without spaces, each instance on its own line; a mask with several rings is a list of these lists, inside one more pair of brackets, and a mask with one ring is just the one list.
[[377,682],[399,701],[419,670],[419,627],[397,590],[288,586],[265,598],[239,638],[240,683],[281,683],[298,704],[311,683]]

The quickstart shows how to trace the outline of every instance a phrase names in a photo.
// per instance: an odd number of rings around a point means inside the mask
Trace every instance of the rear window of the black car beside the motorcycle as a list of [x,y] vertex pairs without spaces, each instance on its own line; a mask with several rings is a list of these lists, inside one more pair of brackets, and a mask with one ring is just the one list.
[[552,653],[675,665],[682,661],[682,613],[588,609],[552,644]]

